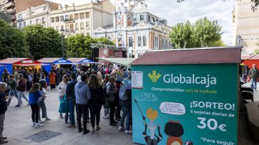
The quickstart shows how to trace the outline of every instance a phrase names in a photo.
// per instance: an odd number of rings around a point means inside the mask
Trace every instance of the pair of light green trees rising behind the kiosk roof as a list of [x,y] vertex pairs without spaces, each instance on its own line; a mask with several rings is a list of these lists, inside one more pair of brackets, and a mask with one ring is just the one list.
[[201,48],[223,46],[221,26],[217,21],[200,18],[196,23],[177,23],[169,37],[174,48]]

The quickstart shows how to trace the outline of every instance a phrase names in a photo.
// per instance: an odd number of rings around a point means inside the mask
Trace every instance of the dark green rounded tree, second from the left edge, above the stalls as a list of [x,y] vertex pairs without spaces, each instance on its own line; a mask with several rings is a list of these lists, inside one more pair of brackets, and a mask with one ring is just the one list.
[[28,42],[28,50],[35,60],[63,56],[61,35],[55,29],[36,25],[24,27],[23,32]]

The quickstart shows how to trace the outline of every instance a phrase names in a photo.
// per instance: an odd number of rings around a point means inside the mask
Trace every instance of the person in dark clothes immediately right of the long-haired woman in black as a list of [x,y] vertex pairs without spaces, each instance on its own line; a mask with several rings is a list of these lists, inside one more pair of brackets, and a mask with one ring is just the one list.
[[115,93],[117,91],[115,90],[115,77],[110,77],[110,81],[107,83],[106,87],[106,94],[109,96],[107,99],[110,104],[110,125],[111,126],[117,126],[117,122],[115,122],[114,114],[115,114]]

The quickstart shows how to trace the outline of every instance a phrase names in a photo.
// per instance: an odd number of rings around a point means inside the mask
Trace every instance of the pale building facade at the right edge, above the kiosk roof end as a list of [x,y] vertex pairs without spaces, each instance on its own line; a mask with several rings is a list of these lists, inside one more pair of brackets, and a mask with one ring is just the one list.
[[259,11],[251,5],[250,0],[238,0],[233,11],[233,45],[243,45],[242,55],[259,50]]

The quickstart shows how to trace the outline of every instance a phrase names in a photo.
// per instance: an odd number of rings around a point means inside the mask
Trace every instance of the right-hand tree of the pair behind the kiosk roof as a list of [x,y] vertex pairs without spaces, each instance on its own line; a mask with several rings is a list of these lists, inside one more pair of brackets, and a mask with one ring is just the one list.
[[218,21],[209,21],[208,18],[200,18],[194,25],[191,37],[197,48],[210,47],[212,43],[221,40],[221,26]]

